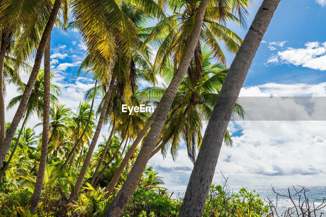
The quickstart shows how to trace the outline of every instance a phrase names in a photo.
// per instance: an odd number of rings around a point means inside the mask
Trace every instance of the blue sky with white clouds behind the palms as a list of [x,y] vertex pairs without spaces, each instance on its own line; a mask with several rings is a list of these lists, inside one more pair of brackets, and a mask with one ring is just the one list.
[[[248,10],[248,26],[252,22],[262,0],[255,0]],[[228,130],[233,146],[222,146],[213,182],[223,181],[221,173],[229,177],[230,185],[325,185],[326,179],[326,119],[318,120],[318,112],[324,110],[321,103],[311,103],[308,109],[292,98],[326,97],[326,0],[282,0],[263,37],[248,75],[241,89],[239,103],[250,108],[245,97],[261,104],[261,114],[284,113],[294,115],[293,121],[244,120],[231,121]],[[246,30],[235,23],[228,28],[244,38]],[[57,28],[51,35],[52,82],[62,93],[61,104],[75,111],[87,89],[94,86],[92,75],[77,75],[86,54],[86,47],[78,32],[64,33]],[[226,54],[226,52],[225,52]],[[227,55],[230,65],[234,56]],[[28,75],[21,75],[23,81]],[[146,86],[146,84],[142,84]],[[6,103],[15,96],[15,87],[8,85]],[[262,104],[259,97],[277,100]],[[289,102],[284,107],[285,100]],[[100,98],[95,100],[98,106]],[[271,106],[272,105],[272,106]],[[6,112],[11,121],[16,109]],[[310,115],[310,116],[309,116]],[[316,118],[317,115],[317,118]],[[250,116],[250,115],[249,115]],[[264,117],[265,117],[264,116]],[[308,117],[303,121],[300,117]],[[27,126],[33,127],[40,120],[32,118]],[[207,123],[203,123],[204,130]],[[36,129],[40,130],[40,129]],[[104,126],[101,135],[109,135]],[[98,141],[100,142],[101,139]],[[176,162],[157,153],[148,165],[152,165],[167,185],[186,185],[193,164],[182,145]]]

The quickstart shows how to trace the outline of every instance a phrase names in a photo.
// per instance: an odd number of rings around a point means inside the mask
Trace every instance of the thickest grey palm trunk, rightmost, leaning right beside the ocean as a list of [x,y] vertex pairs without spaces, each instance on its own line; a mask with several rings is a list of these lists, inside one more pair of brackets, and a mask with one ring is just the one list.
[[202,215],[234,104],[280,0],[264,0],[224,80],[203,137],[179,217]]

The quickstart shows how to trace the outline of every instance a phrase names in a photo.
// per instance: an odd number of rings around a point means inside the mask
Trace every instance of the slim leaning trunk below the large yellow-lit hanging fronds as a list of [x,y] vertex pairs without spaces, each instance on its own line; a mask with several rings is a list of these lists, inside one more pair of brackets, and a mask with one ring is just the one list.
[[106,110],[107,110],[107,107],[108,107],[108,104],[109,104],[109,101],[110,101],[111,92],[112,92],[113,85],[114,85],[114,80],[115,80],[115,78],[112,77],[109,89],[108,89],[108,91],[106,93],[105,101],[103,103],[103,107],[102,107],[102,110],[101,110],[100,117],[98,119],[97,127],[96,127],[96,130],[95,130],[91,145],[89,146],[87,155],[86,155],[85,160],[84,160],[83,165],[82,165],[82,170],[79,173],[79,176],[77,178],[75,187],[74,187],[73,191],[70,194],[70,199],[75,199],[77,197],[79,189],[82,186],[82,181],[84,180],[84,176],[86,174],[87,167],[89,165],[89,162],[91,161],[92,154],[93,154],[97,139],[98,139],[98,137],[100,135],[100,131],[102,129],[105,113],[106,113]]

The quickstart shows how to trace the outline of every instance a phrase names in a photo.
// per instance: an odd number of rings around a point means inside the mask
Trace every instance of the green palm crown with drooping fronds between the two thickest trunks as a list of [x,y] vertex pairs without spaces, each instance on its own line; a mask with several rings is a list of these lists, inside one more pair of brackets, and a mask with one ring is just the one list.
[[[201,77],[194,77],[196,74],[195,58],[190,61],[188,74],[178,88],[177,94],[171,106],[170,114],[165,123],[164,130],[160,136],[156,149],[153,151],[154,156],[159,150],[165,157],[167,154],[168,142],[171,142],[170,153],[173,160],[176,159],[180,141],[185,142],[188,157],[195,163],[196,150],[200,148],[202,140],[201,130],[202,121],[208,121],[215,105],[225,75],[228,72],[222,64],[212,64],[213,56],[211,50],[203,46],[202,51],[202,71]],[[168,67],[164,70],[163,77],[171,78],[173,76],[173,64],[168,62]],[[169,79],[166,82],[170,82]],[[145,88],[141,93],[146,99],[159,100],[166,88]],[[153,99],[153,100],[154,100]],[[243,117],[243,108],[236,103],[232,112]],[[232,140],[228,131],[225,134],[224,142],[227,146],[232,145]]]

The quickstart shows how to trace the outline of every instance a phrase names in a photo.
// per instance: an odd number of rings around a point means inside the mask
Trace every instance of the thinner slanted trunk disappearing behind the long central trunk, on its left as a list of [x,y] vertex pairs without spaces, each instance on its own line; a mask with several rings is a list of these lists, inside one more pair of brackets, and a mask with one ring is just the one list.
[[146,125],[144,126],[144,128],[141,130],[141,132],[137,135],[137,138],[134,140],[134,142],[132,143],[132,145],[130,146],[129,150],[127,151],[125,157],[123,158],[118,170],[114,173],[113,178],[111,179],[108,187],[106,187],[105,191],[107,191],[108,193],[105,195],[106,198],[108,198],[114,188],[114,186],[116,185],[116,183],[118,182],[123,170],[125,169],[125,167],[128,164],[129,159],[131,158],[132,154],[134,153],[134,151],[136,150],[137,145],[139,144],[139,142],[141,142],[141,139],[145,136],[145,134],[147,133],[148,129],[151,127],[157,112],[159,110],[160,107],[160,103],[157,105],[155,111],[153,112],[152,116],[149,118],[149,120],[147,121]]

